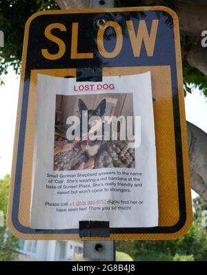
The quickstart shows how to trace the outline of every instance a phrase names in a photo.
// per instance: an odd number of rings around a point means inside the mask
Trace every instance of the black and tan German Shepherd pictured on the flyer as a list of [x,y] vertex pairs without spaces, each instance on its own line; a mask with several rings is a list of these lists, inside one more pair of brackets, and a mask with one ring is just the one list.
[[[104,113],[106,113],[106,99],[103,99],[94,110],[88,109],[83,100],[79,99],[79,132],[81,140],[78,142],[75,140],[63,146],[56,147],[54,154],[56,155],[57,153],[70,151],[75,144],[78,143],[81,144],[83,148],[86,162],[84,162],[83,165],[79,165],[77,169],[89,169],[94,167],[95,158],[99,157],[101,151],[104,149],[104,146],[101,146],[104,135],[104,124],[101,117],[103,117]],[[86,115],[88,117],[85,117]],[[83,123],[86,123],[87,127],[83,127]],[[99,131],[100,129],[101,131]],[[99,135],[100,132],[101,135]]]

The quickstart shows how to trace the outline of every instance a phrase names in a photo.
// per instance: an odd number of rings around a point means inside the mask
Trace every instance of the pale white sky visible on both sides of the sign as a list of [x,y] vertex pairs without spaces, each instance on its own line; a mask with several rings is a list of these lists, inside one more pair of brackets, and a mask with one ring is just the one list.
[[[19,76],[9,68],[5,86],[0,86],[0,179],[10,173],[19,95]],[[198,89],[185,98],[186,120],[207,133],[207,99]],[[196,193],[193,191],[193,197]]]

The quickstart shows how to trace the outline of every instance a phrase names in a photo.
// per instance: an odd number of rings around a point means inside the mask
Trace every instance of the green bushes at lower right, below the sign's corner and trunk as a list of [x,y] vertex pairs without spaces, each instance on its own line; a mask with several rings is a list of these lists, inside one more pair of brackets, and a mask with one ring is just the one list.
[[118,241],[117,250],[128,253],[134,260],[207,260],[207,230],[201,226],[201,212],[207,203],[193,199],[194,222],[187,234],[177,240]]

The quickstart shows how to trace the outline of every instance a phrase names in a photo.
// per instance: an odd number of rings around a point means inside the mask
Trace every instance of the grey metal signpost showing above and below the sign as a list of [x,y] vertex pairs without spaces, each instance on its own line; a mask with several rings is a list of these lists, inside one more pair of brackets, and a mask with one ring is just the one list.
[[[113,8],[115,0],[90,0],[90,8]],[[83,258],[86,260],[115,260],[114,240],[87,240],[83,242]]]

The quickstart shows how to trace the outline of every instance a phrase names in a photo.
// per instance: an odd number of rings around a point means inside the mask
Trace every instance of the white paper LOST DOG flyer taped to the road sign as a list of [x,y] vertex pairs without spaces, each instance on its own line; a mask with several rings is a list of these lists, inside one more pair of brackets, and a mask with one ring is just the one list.
[[102,82],[38,75],[30,227],[158,225],[150,73]]

